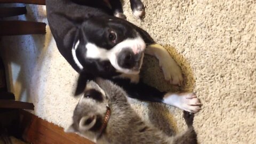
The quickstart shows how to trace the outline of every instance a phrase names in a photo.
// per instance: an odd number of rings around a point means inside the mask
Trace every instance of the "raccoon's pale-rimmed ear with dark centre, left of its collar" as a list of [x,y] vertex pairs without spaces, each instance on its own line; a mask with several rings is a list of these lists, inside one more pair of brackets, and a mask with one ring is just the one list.
[[79,122],[79,129],[84,131],[91,129],[96,123],[96,120],[97,118],[95,115],[82,117]]

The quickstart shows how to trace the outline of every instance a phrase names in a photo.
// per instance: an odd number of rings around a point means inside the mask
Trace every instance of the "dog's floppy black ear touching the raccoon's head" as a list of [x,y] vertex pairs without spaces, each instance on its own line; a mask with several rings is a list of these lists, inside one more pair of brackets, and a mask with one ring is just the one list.
[[83,93],[86,88],[87,82],[91,81],[91,80],[93,80],[93,76],[91,74],[86,73],[85,70],[81,71],[81,73],[79,74],[79,77],[77,79],[75,96]]

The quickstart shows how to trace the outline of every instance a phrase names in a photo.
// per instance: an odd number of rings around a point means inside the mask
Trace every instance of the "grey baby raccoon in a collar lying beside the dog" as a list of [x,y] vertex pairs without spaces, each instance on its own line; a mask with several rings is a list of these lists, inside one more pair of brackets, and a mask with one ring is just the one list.
[[184,111],[188,130],[169,137],[146,124],[131,108],[126,93],[110,81],[97,79],[86,85],[66,132],[75,132],[95,143],[197,143],[194,115]]

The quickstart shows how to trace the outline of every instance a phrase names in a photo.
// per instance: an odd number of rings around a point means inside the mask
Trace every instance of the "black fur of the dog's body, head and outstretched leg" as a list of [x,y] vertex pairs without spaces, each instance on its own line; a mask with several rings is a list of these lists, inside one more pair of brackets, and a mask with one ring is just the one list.
[[[116,1],[119,2],[119,0]],[[112,1],[112,5],[115,2]],[[138,7],[138,4],[142,4],[140,3],[140,0],[131,0],[132,9]],[[101,0],[46,0],[47,18],[57,47],[70,65],[80,73],[75,94],[77,95],[84,91],[88,80],[93,80],[95,77],[102,77],[110,79],[117,85],[123,87],[132,98],[163,102],[166,92],[160,92],[142,81],[131,83],[129,78],[114,78],[114,76],[121,75],[122,73],[117,71],[109,60],[85,57],[85,53],[87,52],[85,45],[88,42],[96,43],[100,47],[105,47],[105,49],[111,49],[111,47],[118,43],[107,41],[108,35],[104,38],[105,33],[108,34],[109,32],[106,31],[109,27],[117,31],[116,33],[122,33],[118,34],[121,36],[118,36],[115,41],[123,41],[127,37],[132,38],[138,34],[147,45],[155,44],[153,38],[145,30],[126,20],[114,17],[115,11],[123,12],[122,6],[120,8],[120,5],[121,3],[117,3],[111,9]],[[77,42],[79,42],[78,45],[76,45]],[[75,51],[76,56],[83,69],[78,67],[73,58],[72,50],[75,46],[77,49]]]

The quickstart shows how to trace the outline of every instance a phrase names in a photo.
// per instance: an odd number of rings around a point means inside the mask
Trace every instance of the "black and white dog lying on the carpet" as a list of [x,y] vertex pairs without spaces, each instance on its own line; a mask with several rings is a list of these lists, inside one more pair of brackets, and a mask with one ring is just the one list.
[[[143,17],[140,0],[130,0],[133,14]],[[196,113],[201,102],[194,93],[160,92],[140,81],[144,53],[159,60],[164,77],[181,85],[180,67],[169,53],[143,29],[121,19],[119,0],[46,0],[47,19],[57,47],[80,73],[76,94],[84,91],[87,80],[110,79],[132,98],[163,102]],[[116,16],[116,17],[114,17]]]

